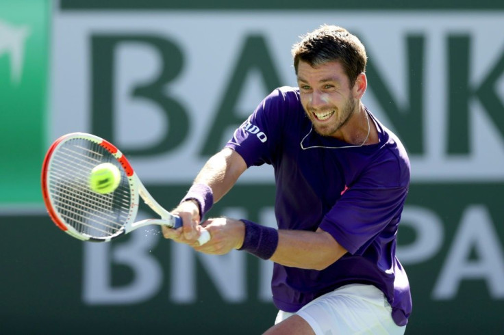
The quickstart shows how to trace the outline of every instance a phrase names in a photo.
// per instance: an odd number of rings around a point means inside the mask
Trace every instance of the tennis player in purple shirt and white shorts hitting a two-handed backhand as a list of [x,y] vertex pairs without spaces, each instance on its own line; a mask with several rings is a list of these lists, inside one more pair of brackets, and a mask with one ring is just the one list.
[[[275,325],[265,334],[403,334],[412,310],[396,237],[409,187],[405,148],[364,106],[364,46],[323,25],[292,48],[299,88],[266,96],[214,155],[164,237],[207,254],[274,262]],[[203,215],[253,165],[275,169],[278,229]],[[200,230],[212,239],[196,242]]]

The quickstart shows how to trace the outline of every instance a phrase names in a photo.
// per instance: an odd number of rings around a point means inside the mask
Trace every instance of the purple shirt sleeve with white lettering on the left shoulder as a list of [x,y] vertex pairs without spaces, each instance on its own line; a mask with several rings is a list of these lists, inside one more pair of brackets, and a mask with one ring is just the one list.
[[225,145],[238,152],[247,167],[271,163],[281,137],[284,101],[280,90],[266,96]]

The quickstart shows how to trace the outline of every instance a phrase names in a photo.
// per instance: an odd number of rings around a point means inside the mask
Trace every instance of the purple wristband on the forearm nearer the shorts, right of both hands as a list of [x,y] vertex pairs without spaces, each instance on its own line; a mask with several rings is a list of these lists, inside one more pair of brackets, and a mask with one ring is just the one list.
[[277,250],[278,230],[254,224],[249,220],[240,221],[245,224],[245,237],[242,247],[238,250],[245,250],[262,259],[270,259]]

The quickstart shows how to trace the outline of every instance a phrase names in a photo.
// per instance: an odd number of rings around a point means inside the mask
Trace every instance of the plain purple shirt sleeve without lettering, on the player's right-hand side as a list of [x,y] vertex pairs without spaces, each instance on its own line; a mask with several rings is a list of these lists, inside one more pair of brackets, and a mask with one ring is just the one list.
[[[380,173],[387,169],[379,168]],[[394,239],[401,219],[407,186],[379,185],[379,178],[373,176],[370,170],[351,185],[319,226],[350,254],[362,254],[379,235],[382,239]]]

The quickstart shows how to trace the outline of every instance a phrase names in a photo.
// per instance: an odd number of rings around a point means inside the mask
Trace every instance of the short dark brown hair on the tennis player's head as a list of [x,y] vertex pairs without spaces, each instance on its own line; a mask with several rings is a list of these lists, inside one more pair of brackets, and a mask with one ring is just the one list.
[[322,25],[311,33],[301,36],[301,42],[292,46],[294,70],[298,70],[299,61],[307,62],[311,66],[318,66],[326,62],[340,62],[351,87],[357,76],[366,72],[368,57],[364,44],[357,36],[336,25]]

